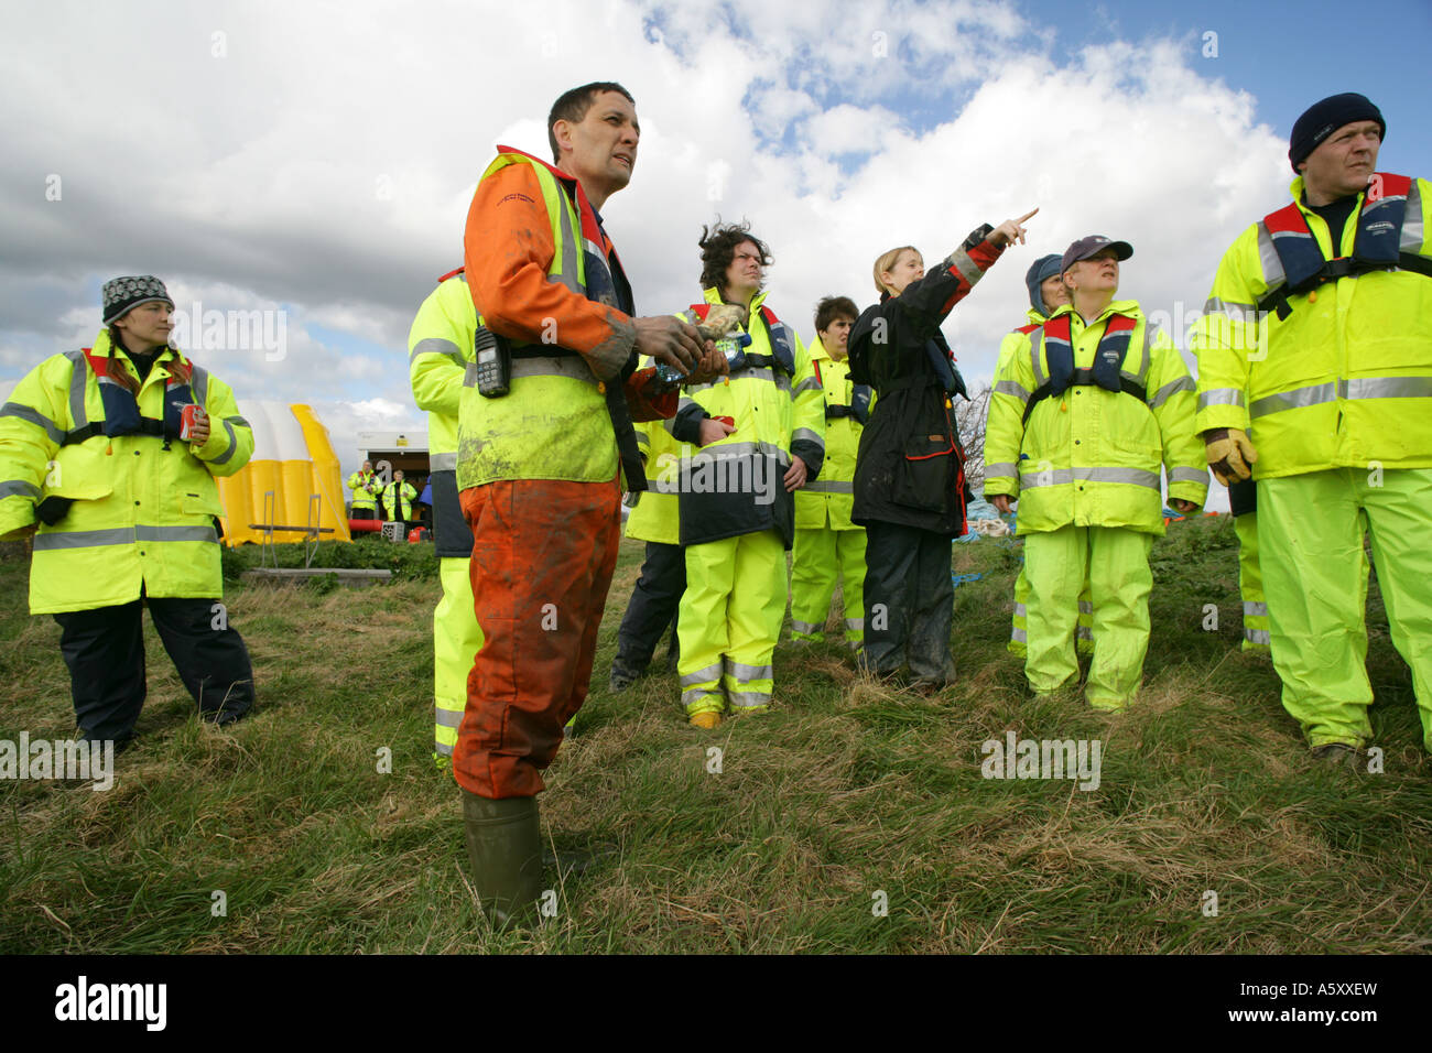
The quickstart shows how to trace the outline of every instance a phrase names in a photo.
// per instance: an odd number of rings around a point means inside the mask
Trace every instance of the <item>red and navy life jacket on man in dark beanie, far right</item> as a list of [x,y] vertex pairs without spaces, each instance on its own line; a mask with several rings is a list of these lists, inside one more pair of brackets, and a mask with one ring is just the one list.
[[[1297,202],[1289,202],[1277,212],[1263,216],[1277,259],[1283,265],[1285,282],[1270,289],[1257,302],[1259,311],[1277,311],[1286,319],[1293,307],[1289,297],[1316,289],[1323,282],[1356,278],[1373,271],[1415,271],[1432,278],[1432,261],[1415,252],[1402,252],[1402,223],[1408,212],[1409,176],[1378,172],[1362,199],[1358,232],[1353,235],[1352,255],[1327,259],[1317,238],[1307,229],[1307,218]],[[1421,222],[1422,216],[1415,218]],[[1342,231],[1330,231],[1340,238]],[[1333,245],[1337,249],[1337,245]]]

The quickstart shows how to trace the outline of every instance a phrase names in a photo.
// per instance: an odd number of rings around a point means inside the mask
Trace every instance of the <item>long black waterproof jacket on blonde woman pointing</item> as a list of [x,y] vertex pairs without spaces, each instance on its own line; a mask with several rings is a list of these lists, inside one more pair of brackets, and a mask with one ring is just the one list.
[[939,324],[1001,249],[981,226],[898,297],[884,295],[851,330],[851,378],[876,391],[855,460],[851,520],[965,533],[965,453],[954,400],[968,398]]

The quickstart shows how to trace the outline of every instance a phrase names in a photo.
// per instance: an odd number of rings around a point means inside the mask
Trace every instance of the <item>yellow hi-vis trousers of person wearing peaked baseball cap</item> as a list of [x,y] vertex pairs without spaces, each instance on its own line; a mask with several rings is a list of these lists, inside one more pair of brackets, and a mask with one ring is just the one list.
[[1088,579],[1094,605],[1094,658],[1084,696],[1095,709],[1123,709],[1136,693],[1148,650],[1153,534],[1127,527],[1064,526],[1024,539],[1030,580],[1024,673],[1034,691],[1078,676],[1074,626]]

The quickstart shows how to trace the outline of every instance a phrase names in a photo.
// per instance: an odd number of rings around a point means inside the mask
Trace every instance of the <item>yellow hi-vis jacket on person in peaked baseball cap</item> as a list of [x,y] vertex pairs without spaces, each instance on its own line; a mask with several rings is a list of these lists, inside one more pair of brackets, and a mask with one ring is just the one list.
[[[1123,378],[1147,393],[1075,385],[1025,405],[1050,377],[1047,332],[1018,334],[1000,385],[990,395],[985,427],[985,499],[1020,500],[1020,533],[1065,524],[1120,526],[1161,534],[1160,464],[1169,470],[1169,497],[1203,504],[1209,494],[1203,443],[1193,430],[1193,378],[1173,341],[1148,332],[1133,299],[1116,299],[1085,325],[1070,317],[1074,367],[1090,368],[1114,315],[1133,318]],[[1031,340],[1034,337],[1035,340]]]

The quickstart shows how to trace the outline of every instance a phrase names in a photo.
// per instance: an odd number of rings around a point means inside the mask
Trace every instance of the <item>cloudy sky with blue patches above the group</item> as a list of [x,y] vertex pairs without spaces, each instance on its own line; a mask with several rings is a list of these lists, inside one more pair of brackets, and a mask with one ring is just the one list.
[[[1134,245],[1121,294],[1183,344],[1323,96],[1370,96],[1379,166],[1432,172],[1425,0],[50,0],[6,29],[0,395],[93,341],[106,278],[156,274],[200,319],[195,358],[311,404],[345,471],[358,430],[422,427],[408,325],[461,264],[494,143],[546,155],[551,100],[587,80],[636,96],[636,173],[603,215],[643,314],[697,298],[717,213],[770,244],[769,304],[808,337],[819,297],[874,299],[884,249],[934,259],[1038,205],[945,325],[977,381],[1025,266],[1091,232]],[[205,334],[253,309],[284,328]]]

